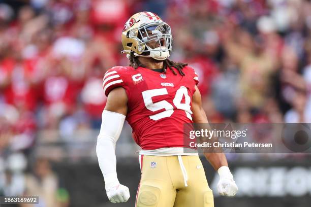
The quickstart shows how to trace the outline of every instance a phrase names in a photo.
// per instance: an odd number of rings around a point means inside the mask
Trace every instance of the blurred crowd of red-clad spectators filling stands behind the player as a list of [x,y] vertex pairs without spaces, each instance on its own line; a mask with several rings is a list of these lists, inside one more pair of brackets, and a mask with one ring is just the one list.
[[129,64],[121,30],[139,11],[171,26],[209,122],[311,122],[311,1],[0,0],[0,156],[28,155],[38,130],[99,129],[103,75]]

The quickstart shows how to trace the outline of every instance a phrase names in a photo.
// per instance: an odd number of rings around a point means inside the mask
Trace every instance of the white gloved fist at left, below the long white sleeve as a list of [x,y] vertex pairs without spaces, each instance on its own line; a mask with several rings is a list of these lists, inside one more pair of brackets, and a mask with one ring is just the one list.
[[110,202],[127,202],[130,198],[129,188],[121,185],[119,182],[106,184],[105,189]]

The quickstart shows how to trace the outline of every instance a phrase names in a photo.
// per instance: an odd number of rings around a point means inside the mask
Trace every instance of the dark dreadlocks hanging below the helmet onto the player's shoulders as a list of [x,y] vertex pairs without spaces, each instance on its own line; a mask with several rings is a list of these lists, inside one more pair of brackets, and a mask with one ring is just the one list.
[[[134,56],[132,53],[130,54],[130,66],[134,67],[135,69],[137,67],[145,67],[142,63],[139,62],[138,57]],[[184,73],[182,72],[182,68],[184,66],[188,65],[188,63],[182,63],[182,62],[173,62],[169,59],[165,59],[163,61],[163,70],[164,73],[166,73],[167,68],[170,68],[170,70],[173,72],[174,75],[177,75],[173,67],[179,72],[181,76],[184,76]]]

